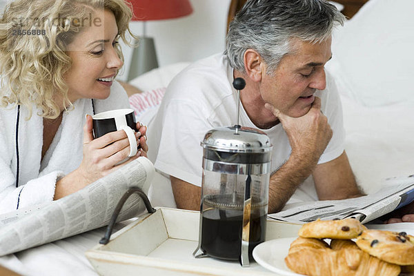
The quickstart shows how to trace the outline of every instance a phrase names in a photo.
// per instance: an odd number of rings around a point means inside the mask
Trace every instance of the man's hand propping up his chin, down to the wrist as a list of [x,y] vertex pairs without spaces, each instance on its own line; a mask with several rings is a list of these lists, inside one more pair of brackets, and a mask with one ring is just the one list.
[[321,99],[315,97],[311,109],[302,117],[289,117],[269,103],[265,108],[282,123],[289,138],[292,154],[316,165],[332,138],[328,119],[321,112]]

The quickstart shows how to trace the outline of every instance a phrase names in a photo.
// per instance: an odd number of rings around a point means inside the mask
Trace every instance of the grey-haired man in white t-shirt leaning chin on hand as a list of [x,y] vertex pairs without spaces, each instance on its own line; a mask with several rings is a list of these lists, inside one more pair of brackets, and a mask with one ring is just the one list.
[[240,124],[263,130],[273,144],[269,213],[294,194],[301,200],[362,195],[344,151],[339,95],[324,70],[332,30],[343,21],[327,1],[250,0],[230,23],[224,55],[172,80],[148,128],[154,149],[148,156],[169,175],[178,208],[199,210],[200,141],[211,128],[235,124],[237,77],[246,81]]

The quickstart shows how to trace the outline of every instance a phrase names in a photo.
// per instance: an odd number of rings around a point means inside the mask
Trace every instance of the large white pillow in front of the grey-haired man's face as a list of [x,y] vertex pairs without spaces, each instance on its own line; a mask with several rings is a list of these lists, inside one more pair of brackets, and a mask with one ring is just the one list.
[[333,37],[327,68],[365,106],[414,101],[414,1],[371,0]]

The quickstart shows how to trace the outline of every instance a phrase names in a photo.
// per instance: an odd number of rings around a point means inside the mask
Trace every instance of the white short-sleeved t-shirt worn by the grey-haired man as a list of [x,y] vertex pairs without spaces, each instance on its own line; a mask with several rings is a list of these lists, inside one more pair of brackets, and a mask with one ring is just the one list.
[[[148,126],[148,152],[155,168],[190,184],[201,186],[203,141],[206,132],[220,126],[233,126],[237,117],[237,92],[233,88],[233,68],[226,56],[217,54],[202,59],[181,71],[170,82],[157,116]],[[241,91],[243,93],[243,90]],[[345,130],[342,106],[332,77],[326,74],[326,89],[317,91],[322,112],[328,117],[333,137],[319,159],[331,161],[344,151]],[[239,124],[257,128],[240,105]],[[291,148],[282,124],[262,129],[273,145],[271,171],[289,158]],[[313,181],[300,186],[293,201],[317,199]]]

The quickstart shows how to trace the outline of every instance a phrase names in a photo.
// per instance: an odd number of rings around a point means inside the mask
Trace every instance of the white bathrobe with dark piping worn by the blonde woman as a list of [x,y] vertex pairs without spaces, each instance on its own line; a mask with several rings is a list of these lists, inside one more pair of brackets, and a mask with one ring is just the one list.
[[[63,112],[61,125],[41,161],[43,118],[33,110],[20,108],[19,119],[19,187],[16,188],[17,108],[0,108],[0,214],[52,201],[59,177],[78,168],[82,160],[83,125],[86,114],[92,115],[91,99],[79,99],[75,109]],[[114,81],[108,99],[94,99],[95,113],[129,108],[128,96]]]

